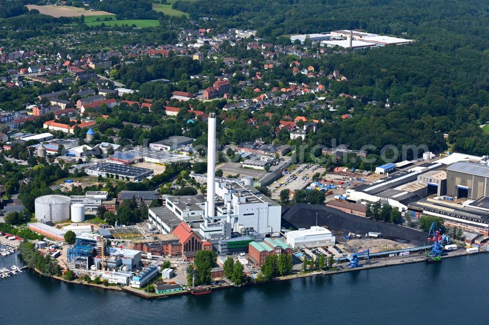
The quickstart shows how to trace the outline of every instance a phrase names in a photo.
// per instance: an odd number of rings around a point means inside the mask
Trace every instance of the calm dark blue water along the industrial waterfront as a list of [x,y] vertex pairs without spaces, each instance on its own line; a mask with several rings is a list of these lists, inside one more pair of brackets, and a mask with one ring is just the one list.
[[155,300],[24,270],[0,280],[0,324],[488,324],[488,269],[477,254]]

